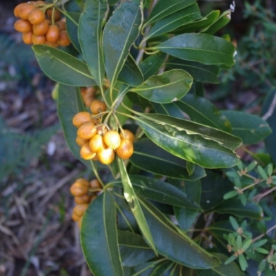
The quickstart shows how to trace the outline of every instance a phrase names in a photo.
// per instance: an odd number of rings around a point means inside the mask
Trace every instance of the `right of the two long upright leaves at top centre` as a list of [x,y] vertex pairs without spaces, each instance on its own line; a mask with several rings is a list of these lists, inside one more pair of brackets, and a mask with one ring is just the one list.
[[132,43],[139,34],[139,1],[125,1],[115,10],[103,30],[103,57],[110,89],[115,85]]

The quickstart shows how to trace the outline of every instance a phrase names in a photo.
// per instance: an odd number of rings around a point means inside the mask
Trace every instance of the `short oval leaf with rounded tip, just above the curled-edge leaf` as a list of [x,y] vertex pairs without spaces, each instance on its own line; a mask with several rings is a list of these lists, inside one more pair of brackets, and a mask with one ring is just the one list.
[[192,83],[193,78],[186,71],[175,69],[152,76],[131,91],[156,103],[169,103],[186,95]]

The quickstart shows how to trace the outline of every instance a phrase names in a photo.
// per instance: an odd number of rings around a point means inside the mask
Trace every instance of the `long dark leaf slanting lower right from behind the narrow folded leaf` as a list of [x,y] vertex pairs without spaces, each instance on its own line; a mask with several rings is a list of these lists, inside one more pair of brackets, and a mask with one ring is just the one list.
[[[207,253],[187,235],[180,235],[175,225],[148,201],[141,199],[141,208],[152,233],[157,252],[190,268],[207,269],[219,265],[217,258]],[[158,231],[156,231],[158,229]]]

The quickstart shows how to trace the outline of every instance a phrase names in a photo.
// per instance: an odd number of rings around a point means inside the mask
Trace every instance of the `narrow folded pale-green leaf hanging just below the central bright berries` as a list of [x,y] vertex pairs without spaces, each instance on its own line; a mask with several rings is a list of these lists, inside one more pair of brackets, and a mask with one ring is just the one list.
[[144,235],[146,241],[148,242],[148,244],[150,244],[152,249],[155,250],[155,245],[154,245],[153,239],[152,239],[152,233],[150,232],[150,229],[148,228],[148,223],[147,223],[144,213],[141,209],[141,206],[139,204],[139,201],[137,199],[135,191],[132,187],[130,178],[128,177],[128,172],[126,171],[126,166],[124,164],[124,161],[123,161],[123,159],[118,157],[117,163],[119,165],[121,181],[124,186],[124,196],[126,198],[126,201],[128,201],[128,204],[130,205],[130,208],[132,210],[133,215],[135,216],[137,224],[139,225],[141,233]]

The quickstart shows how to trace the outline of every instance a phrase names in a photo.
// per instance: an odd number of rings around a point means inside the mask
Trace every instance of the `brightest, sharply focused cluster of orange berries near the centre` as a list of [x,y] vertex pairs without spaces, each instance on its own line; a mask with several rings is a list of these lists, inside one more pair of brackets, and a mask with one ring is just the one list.
[[[106,111],[106,103],[97,99],[90,105],[92,114]],[[80,155],[86,160],[99,160],[102,164],[110,164],[115,159],[115,152],[121,159],[128,159],[133,153],[135,136],[130,130],[119,133],[108,130],[100,119],[93,119],[90,112],[77,113],[72,124],[78,128],[76,142],[81,146]],[[97,116],[96,116],[97,117]]]

